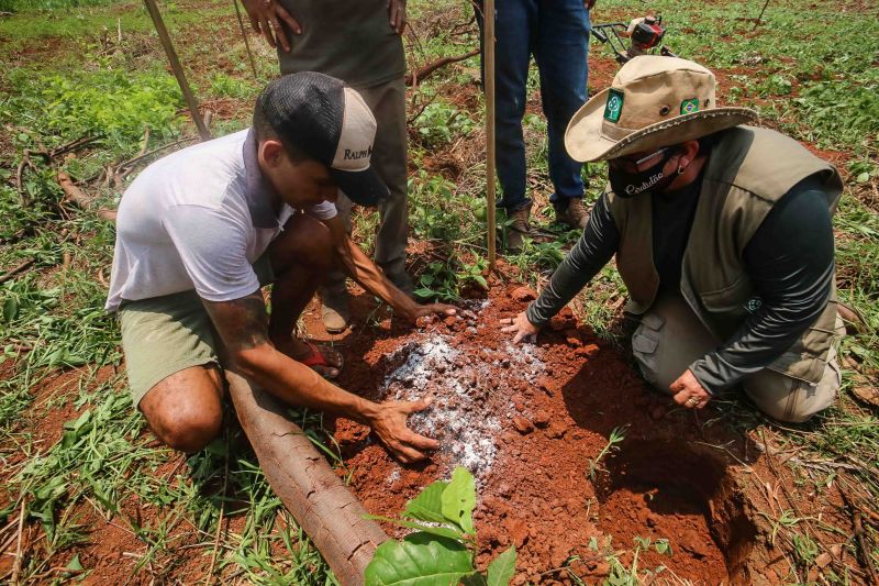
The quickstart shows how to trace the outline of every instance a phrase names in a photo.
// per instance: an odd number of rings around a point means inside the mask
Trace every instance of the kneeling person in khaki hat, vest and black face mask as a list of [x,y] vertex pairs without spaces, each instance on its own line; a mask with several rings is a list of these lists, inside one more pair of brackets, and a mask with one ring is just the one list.
[[804,421],[839,387],[831,215],[836,169],[715,102],[714,76],[642,56],[574,117],[577,161],[608,161],[582,239],[505,331],[533,339],[613,255],[639,317],[645,378],[702,408],[735,385],[764,412]]

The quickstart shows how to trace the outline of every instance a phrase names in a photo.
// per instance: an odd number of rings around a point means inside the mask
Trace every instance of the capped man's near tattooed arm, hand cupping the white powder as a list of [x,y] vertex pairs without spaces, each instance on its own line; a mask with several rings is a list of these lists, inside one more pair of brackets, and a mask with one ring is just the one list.
[[372,428],[401,462],[425,457],[436,440],[419,435],[407,427],[407,417],[430,405],[415,402],[376,403],[323,379],[308,366],[278,352],[268,339],[268,316],[258,289],[232,301],[202,299],[225,349],[225,358],[240,373],[290,405],[333,411]]

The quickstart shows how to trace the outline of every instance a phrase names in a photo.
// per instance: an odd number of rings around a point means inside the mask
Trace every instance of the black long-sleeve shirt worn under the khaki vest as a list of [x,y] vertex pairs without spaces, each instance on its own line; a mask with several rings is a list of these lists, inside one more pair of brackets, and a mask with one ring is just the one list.
[[[701,180],[653,198],[654,264],[660,288],[680,290],[683,252]],[[768,366],[824,310],[833,287],[834,246],[826,197],[814,179],[790,189],[767,214],[744,250],[744,262],[763,306],[728,340],[690,369],[710,392]],[[611,259],[620,232],[607,196],[596,203],[582,237],[553,274],[527,318],[543,325]]]

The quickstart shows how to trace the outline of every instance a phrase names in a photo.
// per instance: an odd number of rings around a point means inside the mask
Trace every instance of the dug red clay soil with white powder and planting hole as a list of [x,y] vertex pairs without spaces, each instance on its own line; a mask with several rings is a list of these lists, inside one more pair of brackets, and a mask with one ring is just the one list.
[[[515,543],[516,584],[567,583],[555,568],[575,555],[580,561],[571,568],[588,582],[607,575],[603,555],[588,548],[590,538],[603,543],[607,535],[616,550],[634,549],[636,537],[668,540],[672,555],[641,552],[642,568],[661,564],[694,583],[719,584],[731,573],[747,582],[755,530],[723,452],[705,446],[723,445],[743,461],[756,452],[722,425],[700,425],[710,409],[675,409],[645,388],[624,357],[569,312],[538,345],[510,345],[498,322],[532,296],[496,284],[487,302],[466,303],[457,319],[414,331],[385,320],[341,341],[347,360],[341,386],[376,400],[432,392],[433,405],[411,424],[443,443],[427,463],[404,467],[367,429],[338,419],[336,440],[365,507],[396,516],[424,486],[466,464],[479,493],[478,562]],[[355,316],[375,308],[366,297],[355,298]],[[315,318],[307,322],[316,333]],[[590,458],[622,425],[625,440],[602,460],[593,484]]]

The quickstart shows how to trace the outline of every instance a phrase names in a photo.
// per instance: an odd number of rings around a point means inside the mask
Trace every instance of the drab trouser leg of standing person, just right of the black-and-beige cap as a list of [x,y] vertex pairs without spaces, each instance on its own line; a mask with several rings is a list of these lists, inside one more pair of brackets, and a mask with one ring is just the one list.
[[357,91],[372,110],[378,123],[371,165],[390,190],[390,197],[379,204],[378,210],[380,224],[376,234],[376,264],[397,287],[411,292],[412,280],[405,272],[405,245],[409,239],[405,84],[401,77]]

